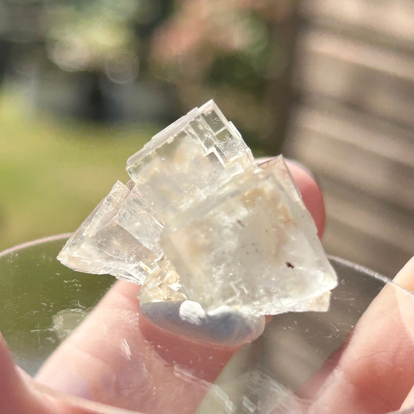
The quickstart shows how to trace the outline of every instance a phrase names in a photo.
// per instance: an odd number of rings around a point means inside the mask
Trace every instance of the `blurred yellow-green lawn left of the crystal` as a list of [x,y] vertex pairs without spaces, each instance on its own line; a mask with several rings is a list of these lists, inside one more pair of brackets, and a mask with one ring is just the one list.
[[0,95],[0,251],[77,229],[116,180],[128,181],[128,156],[160,129],[59,120]]

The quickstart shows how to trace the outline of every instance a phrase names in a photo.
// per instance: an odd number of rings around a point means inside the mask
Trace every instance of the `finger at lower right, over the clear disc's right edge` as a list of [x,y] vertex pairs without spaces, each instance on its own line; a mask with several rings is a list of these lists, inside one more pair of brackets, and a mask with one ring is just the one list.
[[[394,279],[395,284],[411,292],[413,264],[411,259]],[[382,413],[400,409],[414,383],[413,310],[414,296],[391,284],[385,286],[348,343],[310,380],[308,390],[301,395],[316,400],[310,412]],[[315,383],[322,383],[319,390],[315,390]]]

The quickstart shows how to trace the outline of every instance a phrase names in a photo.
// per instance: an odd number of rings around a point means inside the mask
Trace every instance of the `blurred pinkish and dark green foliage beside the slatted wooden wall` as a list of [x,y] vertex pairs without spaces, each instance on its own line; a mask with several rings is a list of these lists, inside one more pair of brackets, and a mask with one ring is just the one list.
[[294,0],[179,0],[154,34],[152,64],[183,106],[214,98],[256,150],[278,152],[296,33]]

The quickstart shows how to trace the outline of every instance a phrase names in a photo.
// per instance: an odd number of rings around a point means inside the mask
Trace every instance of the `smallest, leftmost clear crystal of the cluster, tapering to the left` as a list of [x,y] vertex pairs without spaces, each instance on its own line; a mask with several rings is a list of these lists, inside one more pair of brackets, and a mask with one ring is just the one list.
[[162,250],[148,240],[160,233],[132,181],[118,181],[67,241],[58,260],[82,272],[142,283],[158,269]]

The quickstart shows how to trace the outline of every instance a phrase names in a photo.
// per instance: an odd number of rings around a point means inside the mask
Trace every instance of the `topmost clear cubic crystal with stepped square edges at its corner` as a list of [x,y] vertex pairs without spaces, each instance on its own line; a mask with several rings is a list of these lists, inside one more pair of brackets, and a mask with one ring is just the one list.
[[159,132],[127,163],[162,225],[253,168],[250,149],[213,101]]

